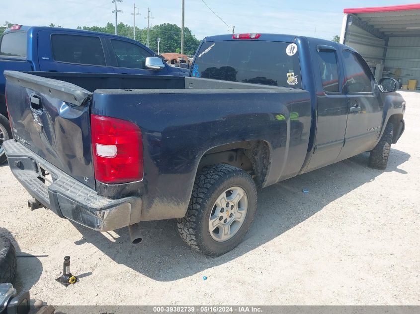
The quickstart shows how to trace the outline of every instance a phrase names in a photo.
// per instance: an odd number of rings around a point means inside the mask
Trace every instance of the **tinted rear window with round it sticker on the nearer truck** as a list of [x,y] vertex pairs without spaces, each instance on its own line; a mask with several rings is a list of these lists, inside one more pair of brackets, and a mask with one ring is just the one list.
[[289,45],[260,40],[205,42],[196,54],[192,76],[302,88],[299,54],[296,46],[286,52]]

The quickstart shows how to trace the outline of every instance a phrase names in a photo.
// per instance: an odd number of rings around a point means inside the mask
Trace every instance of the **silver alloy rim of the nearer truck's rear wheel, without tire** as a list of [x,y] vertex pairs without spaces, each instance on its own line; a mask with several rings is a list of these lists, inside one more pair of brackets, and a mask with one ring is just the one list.
[[248,210],[248,196],[243,188],[232,187],[224,191],[213,205],[209,230],[213,240],[225,242],[241,228]]

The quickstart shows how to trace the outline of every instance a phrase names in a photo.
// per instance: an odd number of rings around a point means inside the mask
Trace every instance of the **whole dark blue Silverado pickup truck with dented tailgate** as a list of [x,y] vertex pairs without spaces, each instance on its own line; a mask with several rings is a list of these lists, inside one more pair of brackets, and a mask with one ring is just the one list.
[[176,218],[211,256],[237,246],[257,188],[370,151],[404,130],[398,82],[350,47],[291,35],[205,38],[190,77],[6,71],[9,166],[60,217],[106,231]]

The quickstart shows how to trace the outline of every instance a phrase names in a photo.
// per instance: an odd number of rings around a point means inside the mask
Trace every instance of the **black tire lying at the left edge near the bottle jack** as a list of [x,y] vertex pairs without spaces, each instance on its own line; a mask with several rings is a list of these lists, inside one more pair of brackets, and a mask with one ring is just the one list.
[[10,240],[0,235],[0,283],[12,283],[16,274],[16,251]]

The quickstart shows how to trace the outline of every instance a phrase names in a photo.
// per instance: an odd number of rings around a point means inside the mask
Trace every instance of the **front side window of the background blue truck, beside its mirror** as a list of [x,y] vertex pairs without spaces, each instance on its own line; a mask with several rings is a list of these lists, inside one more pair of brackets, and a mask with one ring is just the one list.
[[111,39],[118,67],[146,68],[146,58],[152,57],[143,48],[122,40]]

